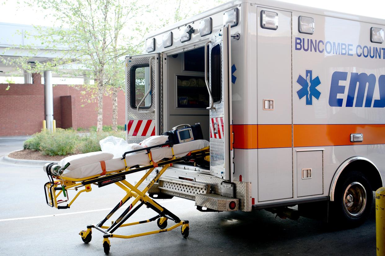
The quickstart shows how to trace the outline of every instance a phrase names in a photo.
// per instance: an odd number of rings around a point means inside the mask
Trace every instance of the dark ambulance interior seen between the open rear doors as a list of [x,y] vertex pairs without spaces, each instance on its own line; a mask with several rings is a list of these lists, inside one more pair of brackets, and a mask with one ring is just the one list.
[[209,110],[206,109],[209,93],[204,68],[204,47],[167,55],[164,94],[168,98],[163,101],[165,131],[181,124],[200,123],[203,138],[210,141]]

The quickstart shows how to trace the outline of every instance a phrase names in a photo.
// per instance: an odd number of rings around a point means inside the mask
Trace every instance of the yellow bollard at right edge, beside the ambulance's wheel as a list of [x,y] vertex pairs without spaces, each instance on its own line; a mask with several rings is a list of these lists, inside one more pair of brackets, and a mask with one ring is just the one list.
[[376,191],[377,256],[385,256],[385,187]]

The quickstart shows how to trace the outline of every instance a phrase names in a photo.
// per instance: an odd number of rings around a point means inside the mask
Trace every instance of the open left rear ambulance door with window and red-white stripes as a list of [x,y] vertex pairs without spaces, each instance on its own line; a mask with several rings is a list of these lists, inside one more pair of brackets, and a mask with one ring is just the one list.
[[126,140],[159,135],[159,53],[126,57]]

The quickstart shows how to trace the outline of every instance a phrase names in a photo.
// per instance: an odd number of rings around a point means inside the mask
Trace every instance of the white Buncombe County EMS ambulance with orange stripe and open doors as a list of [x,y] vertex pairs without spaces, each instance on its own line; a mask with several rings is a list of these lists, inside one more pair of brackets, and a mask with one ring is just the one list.
[[195,123],[210,141],[209,167],[174,164],[150,194],[279,215],[319,202],[361,222],[385,177],[384,28],[240,0],[149,34],[126,58],[127,141]]

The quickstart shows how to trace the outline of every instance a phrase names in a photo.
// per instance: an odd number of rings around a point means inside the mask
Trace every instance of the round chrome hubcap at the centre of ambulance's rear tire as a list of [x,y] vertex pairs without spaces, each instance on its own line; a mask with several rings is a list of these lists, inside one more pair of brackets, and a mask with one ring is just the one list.
[[357,218],[362,215],[366,206],[366,190],[359,182],[350,183],[343,195],[343,205],[346,213]]

